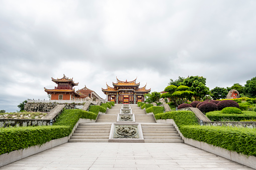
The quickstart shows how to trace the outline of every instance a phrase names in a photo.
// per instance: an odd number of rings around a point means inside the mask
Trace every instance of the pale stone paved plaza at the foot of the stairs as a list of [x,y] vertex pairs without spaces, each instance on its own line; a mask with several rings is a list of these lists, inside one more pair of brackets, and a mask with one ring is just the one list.
[[0,169],[252,169],[185,143],[65,143]]

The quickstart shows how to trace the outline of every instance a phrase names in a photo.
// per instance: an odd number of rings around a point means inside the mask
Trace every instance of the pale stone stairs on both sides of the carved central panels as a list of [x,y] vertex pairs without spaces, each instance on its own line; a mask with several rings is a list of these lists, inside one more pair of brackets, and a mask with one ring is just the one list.
[[[137,104],[130,104],[135,122],[141,123],[145,143],[184,142],[173,124],[156,123],[152,114],[146,114]],[[99,114],[95,123],[79,123],[68,142],[108,142],[111,123],[116,123],[122,104]]]

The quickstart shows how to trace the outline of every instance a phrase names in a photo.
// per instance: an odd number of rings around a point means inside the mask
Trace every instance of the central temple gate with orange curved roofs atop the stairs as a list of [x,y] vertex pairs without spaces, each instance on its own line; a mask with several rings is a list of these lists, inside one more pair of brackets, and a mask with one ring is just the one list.
[[113,82],[114,87],[107,84],[107,89],[102,88],[103,93],[107,95],[106,100],[121,104],[144,102],[144,94],[149,93],[151,89],[146,90],[146,85],[139,88],[140,83],[136,83],[136,79],[133,81],[117,79],[117,83]]

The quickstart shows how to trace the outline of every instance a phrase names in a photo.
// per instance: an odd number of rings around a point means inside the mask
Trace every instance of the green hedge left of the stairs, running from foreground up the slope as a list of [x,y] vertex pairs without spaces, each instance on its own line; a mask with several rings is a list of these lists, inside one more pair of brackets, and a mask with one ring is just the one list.
[[79,118],[96,119],[97,114],[81,109],[64,110],[52,126],[0,128],[0,154],[68,136]]

